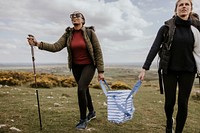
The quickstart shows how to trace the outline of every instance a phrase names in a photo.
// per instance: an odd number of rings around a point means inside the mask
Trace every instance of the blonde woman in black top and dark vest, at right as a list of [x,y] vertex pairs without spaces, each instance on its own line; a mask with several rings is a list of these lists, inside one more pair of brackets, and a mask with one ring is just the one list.
[[[192,25],[192,0],[177,0],[175,6],[175,16],[166,21],[155,38],[149,51],[146,61],[139,74],[139,79],[143,80],[145,71],[156,54],[160,51],[159,69],[163,72],[163,84],[165,92],[165,114],[166,133],[173,130],[173,112],[176,103],[176,91],[178,85],[178,112],[176,115],[176,133],[183,131],[187,113],[188,99],[197,70],[200,72],[200,47],[199,31]],[[196,23],[196,22],[195,22]],[[199,21],[196,23],[199,24]],[[168,38],[166,38],[168,37]],[[167,40],[167,41],[165,41]],[[162,83],[161,82],[161,83]]]

